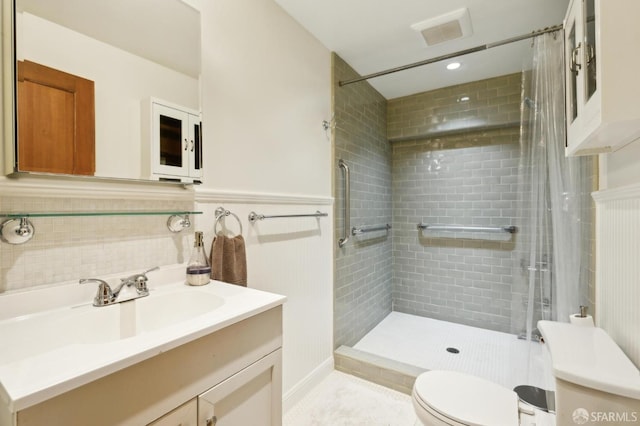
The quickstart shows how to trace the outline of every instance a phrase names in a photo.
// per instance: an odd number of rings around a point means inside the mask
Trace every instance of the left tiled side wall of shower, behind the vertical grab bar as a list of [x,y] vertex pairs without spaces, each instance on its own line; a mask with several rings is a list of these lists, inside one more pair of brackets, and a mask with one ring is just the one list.
[[[333,56],[335,118],[335,217],[343,232],[343,159],[351,170],[351,226],[391,223],[391,146],[386,137],[386,99],[368,83],[338,87],[357,76]],[[351,346],[391,312],[391,234],[352,236],[336,248],[334,345]]]

